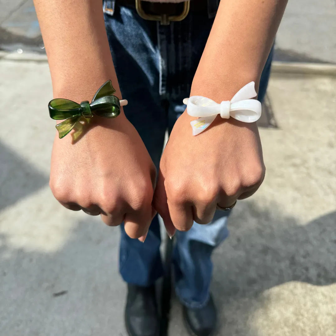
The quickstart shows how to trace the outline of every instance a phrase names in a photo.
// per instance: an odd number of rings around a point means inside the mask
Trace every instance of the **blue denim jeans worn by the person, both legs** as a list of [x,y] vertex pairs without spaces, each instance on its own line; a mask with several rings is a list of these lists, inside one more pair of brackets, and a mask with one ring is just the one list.
[[[144,20],[134,8],[103,3],[111,54],[123,97],[125,114],[140,134],[157,169],[165,132],[185,110],[191,83],[213,24],[217,0],[208,0],[207,13],[189,13],[181,22],[162,26]],[[266,92],[271,54],[262,73],[259,100]],[[143,120],[146,120],[144,123]],[[125,167],[127,169],[127,167]],[[211,223],[176,233],[173,251],[175,291],[188,307],[209,299],[211,253],[227,236],[228,214],[217,211]],[[127,283],[149,286],[164,274],[160,227],[153,219],[144,243],[129,238],[121,226],[119,270]]]

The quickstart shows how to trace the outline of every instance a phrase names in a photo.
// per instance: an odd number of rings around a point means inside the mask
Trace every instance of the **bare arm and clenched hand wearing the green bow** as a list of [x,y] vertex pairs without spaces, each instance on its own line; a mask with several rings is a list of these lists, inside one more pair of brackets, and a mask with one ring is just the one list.
[[[91,101],[96,90],[111,79],[121,99],[101,1],[34,3],[54,97]],[[115,119],[95,116],[78,141],[72,141],[71,133],[63,139],[55,135],[50,187],[56,199],[71,210],[100,214],[111,226],[124,221],[126,233],[141,241],[154,214],[155,175],[155,166],[123,111]]]

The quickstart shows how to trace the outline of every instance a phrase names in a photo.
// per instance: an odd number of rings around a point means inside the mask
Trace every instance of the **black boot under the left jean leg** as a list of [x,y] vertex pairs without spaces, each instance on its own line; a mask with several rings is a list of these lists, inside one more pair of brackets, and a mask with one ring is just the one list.
[[128,284],[125,325],[130,336],[159,336],[155,287]]

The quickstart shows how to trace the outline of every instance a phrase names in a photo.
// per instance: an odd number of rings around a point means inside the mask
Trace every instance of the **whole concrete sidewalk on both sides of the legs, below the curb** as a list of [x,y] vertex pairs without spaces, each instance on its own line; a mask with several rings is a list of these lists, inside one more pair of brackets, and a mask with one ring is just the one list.
[[[62,208],[48,187],[48,65],[2,59],[0,78],[0,335],[125,336],[118,228]],[[213,257],[218,335],[336,333],[335,86],[271,77],[266,178]],[[174,298],[169,335],[186,335]]]

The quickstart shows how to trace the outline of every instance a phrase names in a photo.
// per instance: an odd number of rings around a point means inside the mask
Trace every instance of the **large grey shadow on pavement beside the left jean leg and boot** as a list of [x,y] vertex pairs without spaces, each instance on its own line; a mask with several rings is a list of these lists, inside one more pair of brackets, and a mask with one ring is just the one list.
[[119,230],[99,224],[88,216],[69,225],[56,252],[16,248],[0,227],[0,335],[126,336]]

